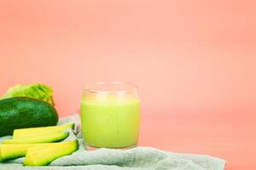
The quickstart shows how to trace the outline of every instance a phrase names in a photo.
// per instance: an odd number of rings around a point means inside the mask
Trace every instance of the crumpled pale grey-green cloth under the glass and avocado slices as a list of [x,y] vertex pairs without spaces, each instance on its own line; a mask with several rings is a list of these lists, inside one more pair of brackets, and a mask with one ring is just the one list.
[[[59,124],[75,122],[75,130],[65,141],[79,139],[79,150],[63,156],[45,167],[23,167],[24,158],[0,163],[0,170],[224,170],[225,161],[217,157],[173,153],[150,147],[130,150],[84,148],[78,115],[62,118]],[[11,136],[0,138],[0,143]]]

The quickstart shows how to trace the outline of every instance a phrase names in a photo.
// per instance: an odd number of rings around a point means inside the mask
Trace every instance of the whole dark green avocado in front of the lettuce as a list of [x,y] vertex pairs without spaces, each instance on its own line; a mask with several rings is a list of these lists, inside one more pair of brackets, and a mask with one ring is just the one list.
[[55,108],[39,99],[0,100],[0,136],[12,135],[17,128],[55,126],[58,119]]

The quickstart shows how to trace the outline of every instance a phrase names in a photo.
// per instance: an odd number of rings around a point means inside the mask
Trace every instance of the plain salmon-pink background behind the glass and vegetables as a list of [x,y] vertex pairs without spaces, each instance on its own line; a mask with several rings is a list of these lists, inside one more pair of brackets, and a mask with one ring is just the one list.
[[0,93],[44,82],[61,116],[86,82],[139,85],[141,145],[256,169],[255,1],[0,1]]

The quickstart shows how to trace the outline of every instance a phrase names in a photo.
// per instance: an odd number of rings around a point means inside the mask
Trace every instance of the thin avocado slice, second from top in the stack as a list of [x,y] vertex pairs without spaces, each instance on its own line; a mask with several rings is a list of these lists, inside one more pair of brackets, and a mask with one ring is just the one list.
[[3,144],[37,144],[37,143],[49,143],[57,142],[62,139],[66,139],[68,133],[49,133],[42,136],[36,136],[27,139],[7,139],[3,140]]

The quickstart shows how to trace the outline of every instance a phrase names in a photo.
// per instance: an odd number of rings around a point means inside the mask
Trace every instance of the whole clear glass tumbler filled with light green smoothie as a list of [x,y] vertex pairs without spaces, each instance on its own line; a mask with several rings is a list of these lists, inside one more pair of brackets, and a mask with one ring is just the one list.
[[140,124],[137,86],[126,82],[87,84],[82,94],[81,122],[89,150],[136,146]]

